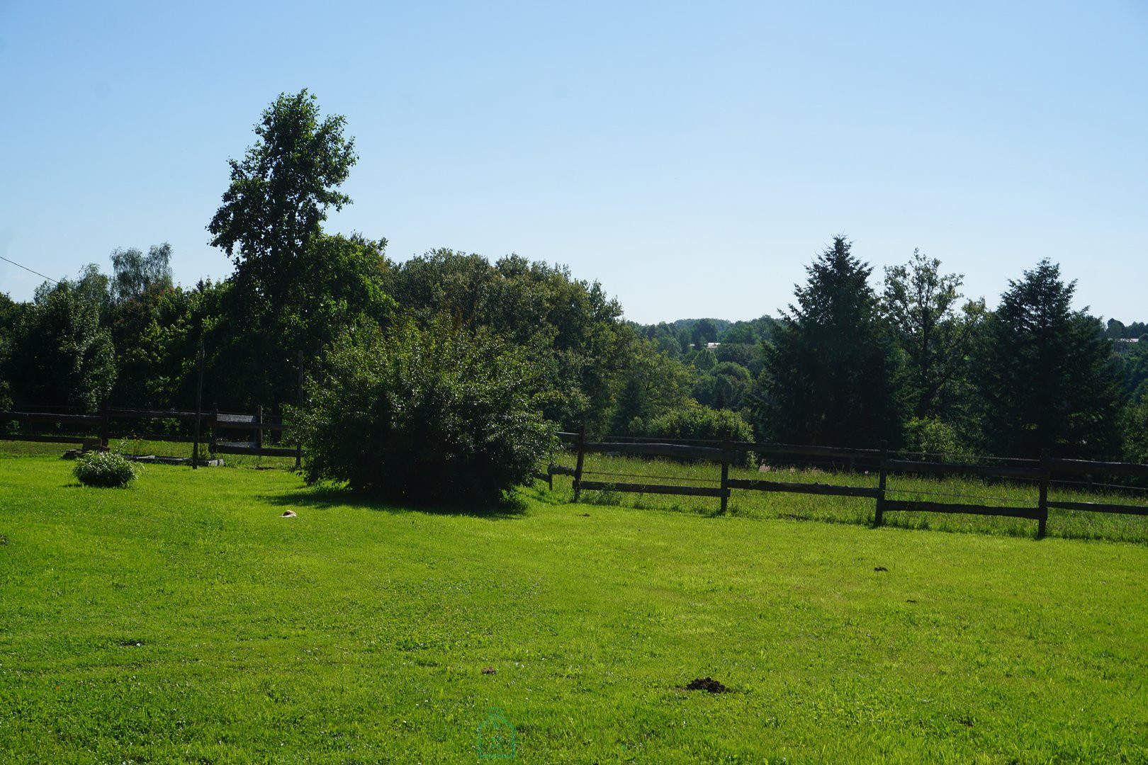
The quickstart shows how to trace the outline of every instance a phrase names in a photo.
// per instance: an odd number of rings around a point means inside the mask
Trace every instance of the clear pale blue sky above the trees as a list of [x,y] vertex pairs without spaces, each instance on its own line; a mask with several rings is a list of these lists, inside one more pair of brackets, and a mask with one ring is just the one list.
[[[280,93],[342,114],[328,229],[518,252],[637,321],[748,319],[835,234],[990,304],[1041,257],[1148,320],[1148,2],[0,0],[0,255],[53,278],[204,226]],[[40,282],[0,261],[0,291]]]

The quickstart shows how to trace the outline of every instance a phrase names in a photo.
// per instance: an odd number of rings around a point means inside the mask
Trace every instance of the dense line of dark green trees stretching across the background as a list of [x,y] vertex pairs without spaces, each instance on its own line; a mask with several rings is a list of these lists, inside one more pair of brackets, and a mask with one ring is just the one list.
[[[296,404],[302,372],[334,411],[323,381],[338,372],[351,385],[358,364],[379,390],[403,369],[450,381],[452,400],[475,411],[507,390],[528,396],[541,420],[518,420],[538,443],[546,421],[591,434],[1148,460],[1146,326],[1073,310],[1076,283],[1056,264],[1038,261],[988,310],[936,259],[914,251],[877,282],[836,237],[776,318],[637,325],[599,283],[561,266],[449,249],[395,263],[385,239],[327,233],[328,210],[351,203],[339,190],[356,161],[344,128],[305,91],[264,111],[208,224],[234,265],[222,282],[174,284],[171,248],[157,244],[116,250],[110,273],[87,266],[28,303],[0,295],[0,406],[189,408],[202,353],[204,404],[224,409]],[[452,333],[481,342],[444,339]],[[490,396],[420,367],[417,349],[432,346],[483,369]],[[529,372],[496,390],[482,349]],[[387,353],[395,364],[366,361]],[[449,437],[463,451],[470,443]]]

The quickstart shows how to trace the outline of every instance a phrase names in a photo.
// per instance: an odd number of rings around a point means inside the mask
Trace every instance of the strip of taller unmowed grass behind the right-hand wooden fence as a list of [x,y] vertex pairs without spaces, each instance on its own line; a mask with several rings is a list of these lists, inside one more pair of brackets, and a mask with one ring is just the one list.
[[[1047,455],[945,462],[884,450],[589,442],[580,434],[563,440],[566,451],[548,471],[551,485],[569,476],[571,499],[591,504],[1148,541],[1148,491],[1132,483],[1148,478],[1143,465]],[[761,467],[739,467],[746,452]]]

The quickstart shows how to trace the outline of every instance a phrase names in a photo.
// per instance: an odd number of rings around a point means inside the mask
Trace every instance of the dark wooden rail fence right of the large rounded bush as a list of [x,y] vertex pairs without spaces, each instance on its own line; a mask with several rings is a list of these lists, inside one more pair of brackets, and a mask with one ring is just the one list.
[[[721,512],[728,507],[732,490],[791,492],[801,494],[821,494],[828,497],[860,497],[875,500],[874,524],[884,522],[885,513],[967,513],[976,515],[995,515],[1006,517],[1029,518],[1037,522],[1037,536],[1047,532],[1048,509],[1087,510],[1094,513],[1122,513],[1131,515],[1148,515],[1148,506],[1120,505],[1115,502],[1079,502],[1048,499],[1048,489],[1053,475],[1119,475],[1148,478],[1148,465],[1128,462],[1091,462],[1085,460],[1054,459],[1044,455],[1039,460],[1009,460],[1002,465],[972,465],[962,462],[925,462],[916,460],[891,459],[887,450],[851,450],[829,446],[800,446],[792,444],[759,444],[748,442],[716,442],[700,445],[687,442],[641,442],[627,440],[587,440],[584,434],[561,432],[559,438],[576,454],[575,466],[551,463],[546,477],[553,486],[556,475],[568,475],[574,479],[574,500],[587,491],[618,491],[649,494],[683,494],[691,497],[714,497],[721,500]],[[753,452],[758,455],[782,458],[829,458],[840,463],[846,470],[853,471],[858,466],[868,466],[877,473],[877,486],[850,486],[824,483],[801,483],[775,481],[769,478],[730,478],[729,467],[738,461],[739,455]],[[691,486],[669,483],[615,483],[610,481],[587,481],[585,454],[608,453],[639,456],[668,456],[674,459],[706,460],[721,467],[718,486]],[[977,476],[991,479],[1030,481],[1035,484],[1037,497],[1032,507],[1008,507],[999,505],[968,502],[937,502],[931,500],[890,499],[887,494],[897,493],[889,489],[890,476],[895,475],[961,475]],[[594,474],[590,474],[594,475]]]

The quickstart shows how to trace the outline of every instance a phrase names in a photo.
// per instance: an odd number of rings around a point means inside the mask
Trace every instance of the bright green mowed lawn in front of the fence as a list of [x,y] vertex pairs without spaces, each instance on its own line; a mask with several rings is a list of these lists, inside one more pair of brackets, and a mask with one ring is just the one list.
[[0,459],[3,763],[475,762],[491,707],[522,763],[1148,762],[1141,544],[70,468]]

